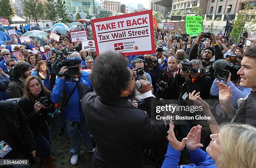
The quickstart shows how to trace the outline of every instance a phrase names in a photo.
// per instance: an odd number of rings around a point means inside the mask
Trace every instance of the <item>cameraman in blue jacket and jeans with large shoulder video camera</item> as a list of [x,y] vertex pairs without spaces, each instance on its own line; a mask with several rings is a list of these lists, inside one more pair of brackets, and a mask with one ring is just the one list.
[[[69,54],[69,58],[80,59],[80,63],[76,64],[81,69],[81,56],[78,52]],[[92,137],[90,130],[84,120],[84,114],[80,100],[83,95],[91,90],[91,83],[89,80],[89,73],[85,71],[79,71],[79,75],[73,76],[75,80],[72,80],[70,76],[65,76],[65,72],[68,71],[67,66],[63,66],[60,69],[59,76],[56,79],[55,87],[51,92],[51,101],[54,103],[60,102],[60,110],[64,113],[66,119],[66,132],[69,135],[72,144],[72,158],[70,160],[72,165],[77,164],[78,156],[80,153],[79,136],[81,135],[87,152],[94,152],[92,147]],[[78,79],[78,80],[77,80]],[[87,110],[87,109],[84,109]]]

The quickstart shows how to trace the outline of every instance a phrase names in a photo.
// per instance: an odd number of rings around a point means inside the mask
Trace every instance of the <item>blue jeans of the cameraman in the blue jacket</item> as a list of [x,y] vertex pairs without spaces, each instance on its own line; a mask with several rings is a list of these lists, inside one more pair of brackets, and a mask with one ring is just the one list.
[[92,150],[92,137],[91,132],[87,126],[85,120],[82,121],[74,121],[74,126],[70,125],[70,121],[67,120],[66,131],[69,135],[71,144],[72,144],[72,155],[79,155],[80,153],[80,141],[79,135],[81,135],[84,146],[87,150]]

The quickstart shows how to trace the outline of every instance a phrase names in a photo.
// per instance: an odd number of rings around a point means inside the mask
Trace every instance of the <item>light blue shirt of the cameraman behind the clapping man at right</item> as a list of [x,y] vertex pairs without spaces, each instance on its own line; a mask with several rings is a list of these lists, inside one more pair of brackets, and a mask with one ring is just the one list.
[[[220,81],[220,80],[219,79],[214,79],[214,81],[212,83],[212,87],[211,87],[211,90],[210,90],[210,94],[212,96],[218,96],[219,95],[220,90],[219,90],[217,81]],[[224,81],[221,81],[221,83],[226,84]],[[237,100],[240,99],[240,98],[245,98],[252,91],[252,89],[250,87],[241,87],[240,85],[235,86],[232,81],[228,82],[227,86],[228,87],[231,86],[232,97],[231,97],[230,103],[235,108],[238,108]]]

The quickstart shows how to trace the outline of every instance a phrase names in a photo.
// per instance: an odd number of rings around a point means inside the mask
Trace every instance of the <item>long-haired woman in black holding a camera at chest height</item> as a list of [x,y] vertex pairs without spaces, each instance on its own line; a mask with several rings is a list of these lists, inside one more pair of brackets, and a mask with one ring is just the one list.
[[36,76],[30,76],[24,84],[24,96],[18,105],[28,117],[29,128],[33,132],[36,144],[40,147],[40,158],[47,168],[55,168],[51,157],[51,139],[49,131],[49,113],[54,112],[54,104],[49,100],[51,92]]

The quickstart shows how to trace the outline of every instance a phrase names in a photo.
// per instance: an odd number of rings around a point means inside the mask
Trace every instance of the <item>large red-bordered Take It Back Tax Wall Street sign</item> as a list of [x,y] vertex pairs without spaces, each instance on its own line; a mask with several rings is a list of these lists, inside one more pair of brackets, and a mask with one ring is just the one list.
[[152,10],[91,20],[97,55],[155,53]]

